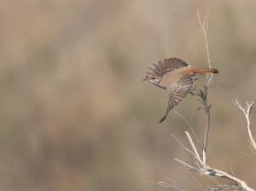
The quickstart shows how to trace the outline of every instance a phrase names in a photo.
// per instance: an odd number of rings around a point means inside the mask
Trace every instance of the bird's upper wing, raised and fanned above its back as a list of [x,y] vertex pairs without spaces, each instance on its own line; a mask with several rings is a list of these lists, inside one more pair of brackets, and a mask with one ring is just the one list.
[[151,76],[163,76],[166,72],[172,72],[181,67],[189,67],[188,63],[179,58],[169,58],[164,61],[158,61],[153,63],[154,67],[149,67],[151,71],[147,73]]

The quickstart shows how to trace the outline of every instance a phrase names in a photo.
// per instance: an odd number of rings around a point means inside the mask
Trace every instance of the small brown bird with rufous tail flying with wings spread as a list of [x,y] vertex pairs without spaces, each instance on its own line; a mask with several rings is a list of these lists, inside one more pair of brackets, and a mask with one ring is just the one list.
[[160,119],[159,123],[163,122],[169,111],[177,106],[191,90],[195,89],[193,76],[204,73],[218,73],[216,69],[190,67],[186,61],[176,57],[166,58],[158,63],[153,62],[153,65],[154,67],[149,67],[151,71],[147,72],[150,76],[146,76],[143,80],[168,91],[166,115]]

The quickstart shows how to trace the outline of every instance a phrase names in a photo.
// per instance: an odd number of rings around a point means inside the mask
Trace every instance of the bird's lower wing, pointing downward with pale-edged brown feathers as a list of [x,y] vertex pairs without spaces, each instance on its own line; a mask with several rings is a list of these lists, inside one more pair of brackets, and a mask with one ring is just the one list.
[[167,87],[169,92],[168,94],[168,106],[166,115],[160,120],[160,123],[166,119],[167,114],[169,111],[174,107],[177,106],[179,101],[182,101],[185,96],[189,94],[189,92],[195,88],[195,81],[194,78],[191,76],[192,73],[185,73],[181,75],[181,77],[177,80],[172,87]]

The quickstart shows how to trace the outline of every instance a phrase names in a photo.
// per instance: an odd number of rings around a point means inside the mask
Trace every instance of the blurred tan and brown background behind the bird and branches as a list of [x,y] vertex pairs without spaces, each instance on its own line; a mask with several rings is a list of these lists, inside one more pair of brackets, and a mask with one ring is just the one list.
[[[190,148],[184,131],[192,132],[173,112],[158,123],[167,93],[143,78],[153,61],[169,57],[208,67],[197,6],[203,19],[204,0],[1,1],[0,189],[174,189],[137,180],[169,182],[161,177],[188,185],[188,171],[166,163],[177,158],[196,166],[172,137]],[[207,163],[230,174],[232,167],[252,188],[255,157],[243,153],[255,155],[232,101],[256,101],[255,18],[253,0],[215,0],[207,31],[219,71],[208,90]],[[196,92],[206,82],[199,78]],[[207,119],[197,99],[189,95],[175,110],[202,142]],[[216,184],[196,178],[204,187]]]

